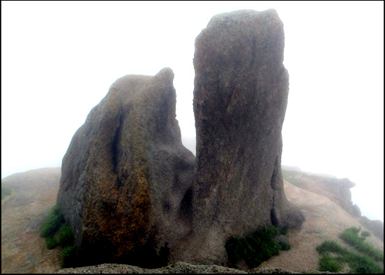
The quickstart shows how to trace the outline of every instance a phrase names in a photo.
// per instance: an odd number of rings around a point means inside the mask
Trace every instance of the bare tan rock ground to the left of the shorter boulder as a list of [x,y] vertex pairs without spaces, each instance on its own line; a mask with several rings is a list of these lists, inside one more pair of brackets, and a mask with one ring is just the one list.
[[40,224],[56,205],[61,169],[43,168],[1,180],[12,189],[1,200],[1,273],[52,273],[61,267],[59,248],[48,250]]

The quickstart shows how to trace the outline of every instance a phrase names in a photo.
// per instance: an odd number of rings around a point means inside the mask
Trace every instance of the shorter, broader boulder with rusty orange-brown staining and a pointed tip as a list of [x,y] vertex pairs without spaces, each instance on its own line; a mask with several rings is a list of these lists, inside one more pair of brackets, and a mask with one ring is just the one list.
[[119,78],[70,142],[57,205],[83,263],[165,265],[190,228],[195,156],[181,143],[173,79],[170,68]]

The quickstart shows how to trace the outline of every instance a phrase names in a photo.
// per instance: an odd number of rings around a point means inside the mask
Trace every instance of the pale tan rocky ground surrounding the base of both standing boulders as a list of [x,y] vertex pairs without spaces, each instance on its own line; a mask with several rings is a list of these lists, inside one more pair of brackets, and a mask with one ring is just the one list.
[[[340,232],[351,226],[363,226],[358,218],[323,195],[298,188],[285,181],[285,194],[298,205],[306,221],[301,228],[289,230],[292,249],[263,262],[257,269],[229,269],[215,265],[177,263],[160,269],[142,269],[128,265],[105,264],[80,269],[61,269],[59,248],[48,250],[39,237],[40,223],[56,203],[60,168],[43,168],[13,174],[1,180],[13,193],[1,200],[1,273],[312,273],[317,269],[315,247],[326,239],[340,241]],[[366,230],[365,228],[363,228]],[[384,242],[368,238],[384,251]],[[345,272],[348,272],[346,270]]]

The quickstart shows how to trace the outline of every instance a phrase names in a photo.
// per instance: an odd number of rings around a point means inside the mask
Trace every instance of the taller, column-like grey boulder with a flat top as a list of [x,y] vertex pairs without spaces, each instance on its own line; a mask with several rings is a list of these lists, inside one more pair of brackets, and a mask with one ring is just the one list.
[[196,237],[179,254],[188,262],[226,264],[230,236],[303,222],[285,198],[280,170],[284,42],[272,9],[216,15],[195,39]]

